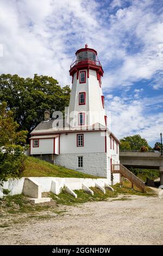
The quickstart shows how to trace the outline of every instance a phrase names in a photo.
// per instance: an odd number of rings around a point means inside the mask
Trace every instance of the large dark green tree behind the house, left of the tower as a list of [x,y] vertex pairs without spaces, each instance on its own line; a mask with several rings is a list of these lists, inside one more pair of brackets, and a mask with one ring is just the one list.
[[69,86],[61,88],[58,81],[49,76],[0,76],[0,101],[6,101],[8,109],[14,111],[20,131],[28,130],[30,133],[43,120],[45,110],[63,112],[68,106],[70,92]]

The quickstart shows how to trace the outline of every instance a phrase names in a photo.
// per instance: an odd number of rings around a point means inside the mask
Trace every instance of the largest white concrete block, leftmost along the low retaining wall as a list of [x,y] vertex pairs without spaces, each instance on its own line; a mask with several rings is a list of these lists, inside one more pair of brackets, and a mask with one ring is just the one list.
[[33,198],[41,198],[41,185],[32,178],[24,179],[23,194]]

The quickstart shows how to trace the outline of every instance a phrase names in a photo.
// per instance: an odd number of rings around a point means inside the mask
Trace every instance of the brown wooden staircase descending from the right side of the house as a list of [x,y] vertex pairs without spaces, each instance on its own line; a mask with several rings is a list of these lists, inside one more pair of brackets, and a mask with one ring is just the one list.
[[130,172],[130,170],[128,170],[122,164],[111,164],[111,173],[120,173],[121,185],[122,185],[122,176],[124,176],[126,179],[128,179],[131,182],[132,188],[135,185],[136,187],[139,187],[141,191],[145,192],[144,182],[141,179],[139,179],[135,174]]

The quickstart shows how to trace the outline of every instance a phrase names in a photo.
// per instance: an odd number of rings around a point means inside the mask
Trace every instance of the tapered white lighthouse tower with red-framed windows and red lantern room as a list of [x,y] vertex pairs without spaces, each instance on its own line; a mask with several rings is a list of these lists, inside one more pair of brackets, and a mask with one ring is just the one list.
[[76,52],[76,60],[70,66],[72,92],[69,105],[70,127],[106,126],[104,96],[101,88],[103,68],[92,48],[81,48]]

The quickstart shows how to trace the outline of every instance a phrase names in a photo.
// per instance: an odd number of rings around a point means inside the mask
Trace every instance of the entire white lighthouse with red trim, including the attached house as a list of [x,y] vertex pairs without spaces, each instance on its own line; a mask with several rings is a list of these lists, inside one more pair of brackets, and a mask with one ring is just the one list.
[[31,133],[30,154],[79,172],[107,177],[110,184],[120,175],[111,175],[111,164],[119,163],[120,142],[107,127],[102,93],[103,68],[97,52],[82,48],[70,66],[72,91],[62,124],[60,114],[43,120]]

